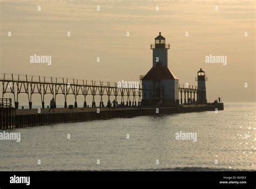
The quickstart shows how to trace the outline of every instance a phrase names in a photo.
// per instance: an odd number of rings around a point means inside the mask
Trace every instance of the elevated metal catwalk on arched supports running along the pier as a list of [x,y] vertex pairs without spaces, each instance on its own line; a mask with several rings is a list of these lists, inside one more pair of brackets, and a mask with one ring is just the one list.
[[[142,85],[137,88],[120,88],[117,83],[84,80],[84,79],[69,79],[69,78],[54,78],[45,76],[30,76],[30,75],[15,75],[12,73],[0,73],[0,97],[4,97],[5,93],[12,93],[14,98],[15,108],[18,109],[19,106],[19,94],[25,93],[28,97],[29,109],[32,109],[32,95],[38,94],[41,97],[42,108],[45,108],[45,95],[51,94],[52,98],[57,98],[57,95],[64,96],[64,107],[67,107],[67,97],[68,95],[73,95],[75,99],[74,107],[77,107],[77,97],[79,95],[83,96],[84,105],[83,107],[88,107],[86,102],[87,96],[92,96],[91,107],[96,107],[96,96],[100,97],[99,107],[104,107],[103,97],[106,96],[107,100],[113,97],[119,104],[129,106],[140,106],[142,105],[142,96],[147,96],[153,100],[154,91],[153,89],[142,90]],[[195,94],[198,96],[200,93],[204,93],[205,90],[199,90],[197,87],[192,86],[179,87],[180,92],[180,102],[183,103],[195,103],[196,100],[190,100],[186,102],[187,99],[192,99],[192,93],[194,99],[196,99]],[[159,91],[158,91],[159,92]],[[185,101],[183,102],[183,93]],[[55,104],[56,106],[56,104]]]

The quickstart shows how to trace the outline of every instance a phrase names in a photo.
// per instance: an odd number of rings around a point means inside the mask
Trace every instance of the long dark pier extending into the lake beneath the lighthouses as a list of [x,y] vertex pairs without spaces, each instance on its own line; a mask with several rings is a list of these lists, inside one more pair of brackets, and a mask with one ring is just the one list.
[[[158,108],[159,113],[156,113]],[[87,122],[92,120],[106,120],[111,118],[131,118],[136,116],[152,116],[158,114],[169,113],[185,113],[185,112],[199,112],[199,111],[215,111],[224,110],[223,103],[216,105],[190,105],[190,106],[175,106],[175,107],[127,107],[108,109],[106,107],[92,107],[92,108],[58,108],[54,113],[50,113],[49,109],[41,109],[38,113],[37,109],[16,110],[15,126],[8,127],[26,127],[26,126],[40,126],[60,123],[77,123]],[[1,118],[2,119],[2,118]],[[7,129],[7,127],[2,127]]]

